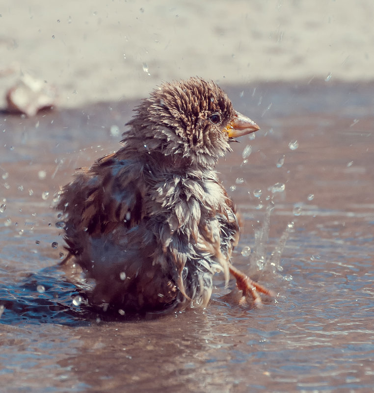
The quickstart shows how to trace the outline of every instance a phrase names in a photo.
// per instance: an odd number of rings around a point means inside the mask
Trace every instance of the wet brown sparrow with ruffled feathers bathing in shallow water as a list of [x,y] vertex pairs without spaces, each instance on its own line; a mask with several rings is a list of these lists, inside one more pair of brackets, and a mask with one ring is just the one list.
[[259,130],[199,78],[164,83],[135,109],[121,147],[62,188],[68,255],[95,280],[89,301],[125,312],[207,306],[230,274],[241,302],[271,292],[233,266],[233,202],[214,170],[234,138]]

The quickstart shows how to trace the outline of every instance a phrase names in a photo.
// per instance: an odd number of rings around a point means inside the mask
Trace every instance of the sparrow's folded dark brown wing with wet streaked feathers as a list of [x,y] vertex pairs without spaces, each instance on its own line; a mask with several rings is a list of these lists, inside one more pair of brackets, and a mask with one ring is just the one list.
[[85,236],[109,233],[119,224],[130,229],[141,220],[143,170],[138,162],[112,154],[80,169],[62,189],[56,208],[66,215],[65,239],[72,254],[80,254]]

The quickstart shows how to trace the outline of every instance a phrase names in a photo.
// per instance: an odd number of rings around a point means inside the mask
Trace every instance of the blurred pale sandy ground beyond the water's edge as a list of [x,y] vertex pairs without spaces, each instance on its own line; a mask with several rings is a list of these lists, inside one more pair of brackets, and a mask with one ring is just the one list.
[[162,80],[374,79],[370,0],[2,0],[0,105],[23,73],[61,106],[142,97]]

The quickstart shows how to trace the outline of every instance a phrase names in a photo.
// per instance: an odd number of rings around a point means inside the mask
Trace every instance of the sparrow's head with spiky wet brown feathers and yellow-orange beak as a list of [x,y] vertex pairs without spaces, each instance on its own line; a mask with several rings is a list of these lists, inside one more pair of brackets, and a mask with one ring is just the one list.
[[125,144],[137,138],[148,154],[161,152],[203,166],[213,166],[230,151],[234,138],[259,130],[234,110],[219,86],[199,78],[162,84],[136,111]]

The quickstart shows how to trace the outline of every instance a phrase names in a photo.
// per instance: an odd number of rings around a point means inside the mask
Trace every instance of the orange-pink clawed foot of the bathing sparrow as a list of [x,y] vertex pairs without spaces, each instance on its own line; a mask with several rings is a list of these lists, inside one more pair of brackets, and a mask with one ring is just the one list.
[[[274,296],[274,293],[262,286],[256,281],[250,279],[245,273],[241,272],[239,269],[230,266],[230,273],[235,277],[237,281],[237,287],[242,291],[242,297],[239,300],[239,304],[243,305],[248,303],[249,300],[252,300],[256,306],[262,305],[262,300],[260,293],[264,293],[267,296]],[[260,292],[260,293],[259,293]]]

